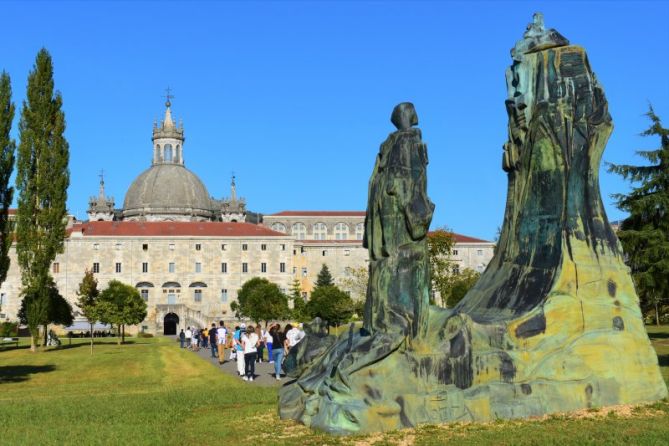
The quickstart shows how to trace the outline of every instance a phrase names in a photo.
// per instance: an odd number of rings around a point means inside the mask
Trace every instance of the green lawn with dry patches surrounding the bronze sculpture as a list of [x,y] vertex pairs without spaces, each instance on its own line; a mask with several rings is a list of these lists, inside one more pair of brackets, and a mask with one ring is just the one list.
[[[669,327],[649,327],[669,381]],[[669,402],[541,420],[337,438],[276,416],[274,388],[225,375],[165,338],[0,349],[0,444],[669,444]]]

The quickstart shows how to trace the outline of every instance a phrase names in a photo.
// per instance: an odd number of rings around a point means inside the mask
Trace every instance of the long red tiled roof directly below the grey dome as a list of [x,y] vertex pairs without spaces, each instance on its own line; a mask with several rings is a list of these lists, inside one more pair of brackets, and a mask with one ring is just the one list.
[[286,237],[265,226],[223,222],[91,221],[75,224],[73,232],[81,232],[84,237]]

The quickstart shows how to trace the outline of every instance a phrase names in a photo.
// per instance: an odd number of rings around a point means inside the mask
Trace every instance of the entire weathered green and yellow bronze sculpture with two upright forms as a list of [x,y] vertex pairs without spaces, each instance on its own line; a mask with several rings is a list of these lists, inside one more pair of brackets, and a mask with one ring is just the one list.
[[455,309],[427,305],[427,155],[417,119],[393,119],[370,180],[365,329],[300,365],[282,418],[349,434],[667,396],[600,197],[604,92],[585,51],[540,15],[512,57],[508,198],[490,265]]

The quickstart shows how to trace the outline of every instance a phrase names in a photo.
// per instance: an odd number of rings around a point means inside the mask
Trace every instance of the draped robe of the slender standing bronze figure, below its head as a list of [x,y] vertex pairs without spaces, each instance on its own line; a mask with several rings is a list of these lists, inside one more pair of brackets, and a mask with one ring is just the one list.
[[364,327],[370,333],[417,335],[429,304],[427,148],[417,128],[381,144],[369,181],[363,246],[369,250]]

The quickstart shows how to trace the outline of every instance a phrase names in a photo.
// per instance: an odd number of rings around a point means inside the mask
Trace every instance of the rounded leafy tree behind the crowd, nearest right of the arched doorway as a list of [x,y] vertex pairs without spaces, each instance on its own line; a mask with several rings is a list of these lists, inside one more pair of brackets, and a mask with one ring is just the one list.
[[230,307],[238,317],[248,317],[256,323],[265,321],[267,324],[290,314],[288,297],[277,284],[260,277],[246,281],[237,293],[237,302]]

